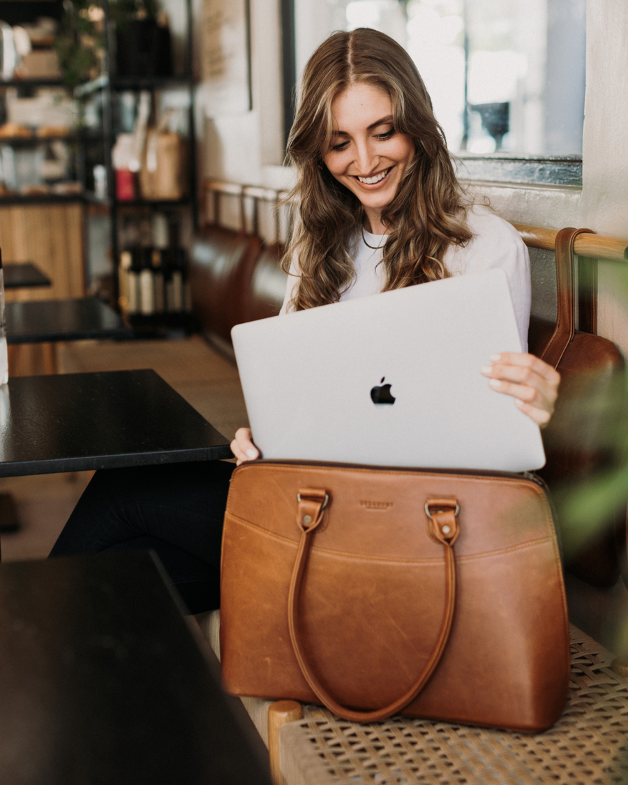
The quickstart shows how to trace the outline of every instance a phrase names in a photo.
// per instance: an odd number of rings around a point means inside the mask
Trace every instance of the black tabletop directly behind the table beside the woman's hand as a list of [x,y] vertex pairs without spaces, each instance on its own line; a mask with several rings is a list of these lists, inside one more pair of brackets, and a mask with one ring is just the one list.
[[6,341],[84,341],[129,338],[131,327],[98,298],[36,300],[6,304]]

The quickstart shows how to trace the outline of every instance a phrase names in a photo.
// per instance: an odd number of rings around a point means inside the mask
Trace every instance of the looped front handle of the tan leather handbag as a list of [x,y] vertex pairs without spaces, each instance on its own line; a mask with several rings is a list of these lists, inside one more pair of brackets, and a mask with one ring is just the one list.
[[458,521],[458,502],[456,499],[429,498],[425,502],[425,513],[429,517],[430,530],[433,536],[443,544],[445,553],[445,607],[443,621],[440,626],[436,644],[422,673],[411,688],[399,699],[390,703],[389,706],[374,711],[355,711],[341,706],[334,700],[321,685],[316,675],[313,673],[308,659],[303,651],[301,643],[301,633],[298,625],[298,609],[301,598],[301,586],[305,564],[307,563],[309,548],[312,544],[312,533],[323,520],[324,509],[329,501],[327,491],[320,488],[301,488],[298,493],[298,512],[297,523],[301,528],[301,539],[299,541],[297,557],[294,561],[292,578],[290,579],[290,593],[288,596],[288,626],[290,628],[290,641],[294,655],[297,658],[301,674],[305,677],[312,692],[315,693],[324,706],[344,720],[352,722],[378,722],[390,717],[392,714],[400,712],[404,707],[411,703],[422,688],[425,687],[429,677],[432,676],[436,666],[440,663],[443,656],[449,635],[451,633],[451,623],[454,619],[455,595],[456,595],[456,571],[454,557],[454,543],[460,534],[460,524]]

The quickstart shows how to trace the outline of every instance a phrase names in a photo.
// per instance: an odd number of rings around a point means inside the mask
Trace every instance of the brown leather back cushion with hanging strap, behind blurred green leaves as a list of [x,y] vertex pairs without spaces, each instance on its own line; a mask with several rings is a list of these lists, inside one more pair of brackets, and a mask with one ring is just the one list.
[[[530,320],[530,352],[560,372],[560,390],[550,424],[542,431],[546,466],[539,475],[550,491],[579,484],[617,462],[613,438],[623,416],[624,365],[619,349],[608,338],[592,334],[595,315],[593,291],[582,291],[580,324],[590,332],[575,329],[574,241],[590,229],[564,228],[558,232],[556,252],[557,322]],[[582,261],[582,260],[581,260]],[[583,262],[583,261],[582,261]],[[625,510],[594,535],[585,547],[579,532],[572,533],[568,521],[560,520],[566,568],[593,586],[613,586],[619,577],[616,532],[622,531]]]

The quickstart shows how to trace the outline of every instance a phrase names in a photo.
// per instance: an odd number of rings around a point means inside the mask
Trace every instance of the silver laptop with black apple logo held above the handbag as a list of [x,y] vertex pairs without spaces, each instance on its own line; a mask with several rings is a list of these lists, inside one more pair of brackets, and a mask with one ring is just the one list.
[[239,324],[232,340],[264,458],[545,463],[539,427],[480,374],[491,354],[521,351],[502,270]]

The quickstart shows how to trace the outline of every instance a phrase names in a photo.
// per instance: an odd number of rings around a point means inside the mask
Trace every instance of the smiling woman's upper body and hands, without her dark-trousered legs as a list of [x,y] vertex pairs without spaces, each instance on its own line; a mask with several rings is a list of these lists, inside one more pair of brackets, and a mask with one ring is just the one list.
[[[301,221],[283,312],[500,267],[527,347],[527,250],[506,221],[466,203],[425,85],[392,38],[360,28],[319,46],[288,157]],[[489,385],[546,425],[559,374],[526,353],[491,360]],[[238,462],[259,455],[248,429],[232,451]]]

